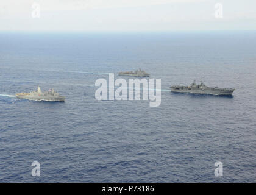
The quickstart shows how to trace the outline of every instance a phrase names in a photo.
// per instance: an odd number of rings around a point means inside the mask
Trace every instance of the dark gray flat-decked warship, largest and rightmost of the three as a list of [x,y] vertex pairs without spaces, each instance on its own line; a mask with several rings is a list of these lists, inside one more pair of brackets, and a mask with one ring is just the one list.
[[207,87],[204,83],[196,84],[195,80],[191,85],[173,85],[170,87],[172,92],[177,93],[195,93],[195,94],[211,94],[215,96],[231,96],[235,89]]

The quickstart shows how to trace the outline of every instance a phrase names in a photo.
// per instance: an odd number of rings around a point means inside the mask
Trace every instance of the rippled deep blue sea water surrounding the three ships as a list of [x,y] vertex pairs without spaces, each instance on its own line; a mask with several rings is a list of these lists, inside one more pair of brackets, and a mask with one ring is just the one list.
[[[137,68],[162,79],[160,107],[95,99],[104,73]],[[236,90],[168,91],[194,79]],[[38,85],[66,102],[12,97]],[[255,32],[2,32],[0,94],[0,182],[256,182]]]

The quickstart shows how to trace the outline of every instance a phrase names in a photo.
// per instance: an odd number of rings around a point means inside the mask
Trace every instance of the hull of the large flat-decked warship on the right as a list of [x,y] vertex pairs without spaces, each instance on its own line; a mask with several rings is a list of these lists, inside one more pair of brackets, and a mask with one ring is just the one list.
[[193,93],[193,94],[209,94],[214,96],[232,96],[234,90],[188,90],[188,89],[175,89],[171,88],[171,91],[174,93]]

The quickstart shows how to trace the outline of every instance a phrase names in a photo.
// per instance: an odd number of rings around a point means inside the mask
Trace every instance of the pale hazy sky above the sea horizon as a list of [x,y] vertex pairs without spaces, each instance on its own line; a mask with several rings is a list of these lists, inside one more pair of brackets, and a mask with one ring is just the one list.
[[256,30],[256,0],[0,0],[0,30]]

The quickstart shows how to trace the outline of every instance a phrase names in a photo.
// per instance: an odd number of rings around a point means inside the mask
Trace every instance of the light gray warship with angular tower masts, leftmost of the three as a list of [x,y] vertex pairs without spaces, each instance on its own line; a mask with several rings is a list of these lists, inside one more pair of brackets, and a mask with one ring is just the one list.
[[32,91],[30,93],[17,93],[17,98],[29,99],[34,101],[50,101],[50,102],[64,102],[65,97],[59,96],[59,93],[55,92],[54,89],[49,89],[48,91],[41,91],[38,86],[37,91]]

